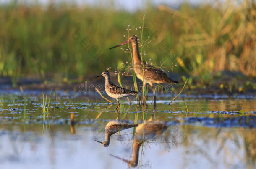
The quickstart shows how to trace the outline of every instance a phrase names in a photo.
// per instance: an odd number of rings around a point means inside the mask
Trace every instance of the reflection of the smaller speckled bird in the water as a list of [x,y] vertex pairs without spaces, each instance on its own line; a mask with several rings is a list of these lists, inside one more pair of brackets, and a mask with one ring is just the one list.
[[118,131],[129,129],[131,127],[136,127],[138,124],[129,124],[122,121],[110,121],[105,127],[105,141],[97,141],[102,144],[102,146],[107,147],[110,144],[110,136],[117,133]]

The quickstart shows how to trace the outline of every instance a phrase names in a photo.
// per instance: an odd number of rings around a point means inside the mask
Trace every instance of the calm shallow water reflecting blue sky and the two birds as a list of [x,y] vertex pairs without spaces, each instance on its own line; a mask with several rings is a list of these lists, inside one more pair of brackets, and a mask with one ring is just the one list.
[[99,97],[89,102],[52,95],[43,114],[42,96],[2,93],[0,168],[256,167],[254,99],[187,98],[171,106],[159,100],[144,107],[123,99],[118,123],[139,126],[113,134],[108,147],[94,140],[104,141],[116,105]]

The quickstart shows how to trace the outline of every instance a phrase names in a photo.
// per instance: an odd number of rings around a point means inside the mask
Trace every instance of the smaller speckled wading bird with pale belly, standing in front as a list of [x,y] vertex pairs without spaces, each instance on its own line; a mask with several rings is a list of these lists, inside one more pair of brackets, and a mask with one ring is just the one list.
[[[128,97],[128,96],[138,94],[138,91],[130,91],[126,88],[121,88],[120,86],[116,86],[115,84],[111,83],[110,73],[108,71],[102,72],[101,75],[99,75],[97,77],[100,77],[100,76],[105,77],[105,91],[106,91],[107,95],[112,98],[115,98],[117,101],[119,98]],[[95,78],[97,78],[97,77],[95,77]],[[118,101],[118,105],[116,106],[115,109],[118,109],[118,106],[120,109],[119,101]]]

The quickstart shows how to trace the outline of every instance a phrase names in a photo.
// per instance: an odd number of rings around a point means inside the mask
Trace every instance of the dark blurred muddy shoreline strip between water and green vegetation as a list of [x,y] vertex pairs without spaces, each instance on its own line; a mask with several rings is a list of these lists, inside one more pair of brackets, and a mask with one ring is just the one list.
[[[117,77],[115,73],[111,73],[112,81],[115,84],[118,84]],[[222,73],[220,78],[215,78],[211,85],[198,85],[196,83],[187,84],[183,94],[199,96],[200,95],[209,95],[210,98],[218,98],[217,95],[225,95],[222,98],[236,98],[236,96],[249,96],[254,97],[256,95],[256,78],[246,78],[245,76],[238,76],[240,74],[231,74],[231,73]],[[177,76],[177,75],[175,75]],[[162,84],[158,92],[160,95],[171,94],[175,95],[179,93],[181,88],[183,87],[184,82],[179,80],[179,84],[170,85]],[[127,88],[132,88],[133,80],[131,76],[123,76],[122,83],[125,84]],[[138,86],[141,86],[141,81],[137,79]],[[65,91],[66,93],[78,93],[81,95],[94,94],[95,87],[97,87],[100,91],[104,91],[104,79],[97,78],[95,79],[93,76],[84,78],[83,80],[69,80],[68,82],[58,83],[54,80],[40,80],[37,78],[20,78],[17,81],[17,84],[13,86],[11,78],[3,78],[0,77],[0,93],[11,93],[12,91],[23,90],[23,91],[38,91],[42,93],[42,91],[48,91],[53,87],[55,91]],[[141,87],[142,88],[142,87]],[[152,93],[150,86],[147,86],[149,95]],[[170,90],[169,90],[170,89]],[[169,90],[169,92],[166,92]],[[139,90],[140,91],[140,90]],[[31,93],[29,92],[29,93]]]

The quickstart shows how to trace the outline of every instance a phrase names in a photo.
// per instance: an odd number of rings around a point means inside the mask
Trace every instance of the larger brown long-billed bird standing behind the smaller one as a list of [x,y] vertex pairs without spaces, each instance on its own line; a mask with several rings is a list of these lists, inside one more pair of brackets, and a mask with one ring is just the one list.
[[[143,77],[143,66],[142,66],[142,61],[141,61],[141,56],[139,54],[138,51],[138,38],[134,35],[131,36],[130,38],[128,38],[128,40],[126,40],[123,43],[120,43],[119,45],[116,45],[112,48],[121,46],[121,45],[125,45],[126,43],[131,43],[132,47],[133,47],[133,68],[134,68],[134,72],[137,76],[138,79],[140,79],[141,81],[143,81],[144,78],[144,85],[149,84],[152,88],[153,91],[153,84],[157,83],[179,83],[178,81],[172,80],[171,78],[169,78],[166,73],[164,71],[162,71],[161,69],[157,69],[154,66],[148,65],[146,64],[146,62],[144,62],[144,77]],[[112,49],[110,48],[110,49]],[[155,93],[154,93],[155,94]]]

